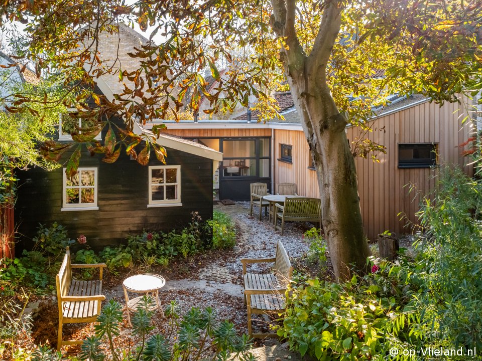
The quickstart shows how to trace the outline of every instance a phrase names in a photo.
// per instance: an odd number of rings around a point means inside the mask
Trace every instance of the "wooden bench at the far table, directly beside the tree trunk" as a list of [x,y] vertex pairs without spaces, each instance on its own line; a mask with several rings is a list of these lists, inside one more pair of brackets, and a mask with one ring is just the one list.
[[284,206],[275,205],[275,231],[278,219],[281,219],[281,235],[285,221],[314,222],[321,225],[321,201],[317,198],[287,198]]

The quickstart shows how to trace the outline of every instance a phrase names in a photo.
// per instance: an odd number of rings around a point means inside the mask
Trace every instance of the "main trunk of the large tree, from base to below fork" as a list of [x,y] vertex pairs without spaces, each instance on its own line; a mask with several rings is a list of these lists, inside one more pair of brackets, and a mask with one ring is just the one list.
[[352,268],[367,270],[371,252],[363,229],[355,162],[345,133],[348,122],[326,86],[298,79],[291,90],[317,171],[322,225],[333,270],[337,278],[349,279]]

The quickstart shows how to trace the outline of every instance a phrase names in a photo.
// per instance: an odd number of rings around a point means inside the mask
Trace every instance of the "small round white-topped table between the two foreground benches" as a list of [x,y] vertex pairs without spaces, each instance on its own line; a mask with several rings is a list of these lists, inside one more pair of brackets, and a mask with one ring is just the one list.
[[165,284],[166,280],[164,277],[152,273],[135,275],[124,280],[122,287],[124,288],[124,295],[126,296],[127,319],[131,326],[130,313],[131,311],[135,311],[137,309],[138,305],[142,301],[143,296],[137,296],[129,299],[128,292],[143,294],[152,293],[155,296],[156,304],[152,305],[150,310],[159,309],[161,310],[161,315],[164,317],[164,311],[161,303],[159,302],[159,290],[164,287]]

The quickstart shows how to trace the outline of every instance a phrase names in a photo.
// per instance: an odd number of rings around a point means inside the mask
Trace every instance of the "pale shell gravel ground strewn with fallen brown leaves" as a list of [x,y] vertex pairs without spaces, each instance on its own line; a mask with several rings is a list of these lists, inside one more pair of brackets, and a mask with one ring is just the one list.
[[[225,287],[230,283],[239,285],[243,284],[242,264],[240,258],[266,258],[274,257],[276,245],[280,240],[286,248],[288,255],[292,262],[302,261],[304,255],[308,251],[308,243],[303,240],[303,233],[312,227],[311,224],[288,222],[285,224],[285,233],[281,236],[281,231],[274,231],[273,225],[268,222],[268,217],[263,214],[262,220],[258,219],[258,209],[255,209],[253,216],[249,215],[249,202],[239,202],[234,206],[215,206],[216,209],[227,213],[235,222],[237,228],[237,243],[231,251],[213,251],[208,253],[208,259],[205,262],[199,262],[199,269],[191,271],[190,278],[184,280],[171,280],[171,287],[161,289],[159,296],[161,304],[165,307],[170,301],[176,300],[179,304],[179,313],[181,316],[185,314],[191,307],[196,306],[201,309],[210,306],[215,309],[217,319],[229,320],[234,323],[236,329],[240,333],[247,333],[247,311],[243,302],[242,292],[239,296],[233,296],[232,292],[225,291]],[[183,261],[177,261],[182,266]],[[196,263],[197,264],[197,263]],[[250,272],[264,273],[269,271],[272,264],[255,264],[250,266]],[[124,292],[122,289],[122,280],[131,276],[133,270],[121,274],[112,280],[114,282],[105,282],[103,293],[106,296],[106,301],[114,299],[125,306]],[[152,270],[151,272],[155,272]],[[146,273],[146,271],[138,272]],[[170,277],[166,277],[167,285],[170,283]],[[206,287],[199,286],[199,282],[195,283],[193,280],[202,280]],[[212,287],[212,285],[215,287]],[[186,286],[188,285],[188,286]],[[224,288],[224,290],[223,290]],[[124,307],[124,312],[126,309]],[[127,323],[127,315],[124,314],[124,322],[121,327],[121,335],[119,340],[123,347],[134,348],[139,339],[131,335],[131,327]],[[258,322],[254,323],[255,332],[266,332],[269,330],[268,321],[263,317],[257,317]],[[56,330],[58,326],[58,313],[56,302],[51,302],[50,305],[44,307],[44,311],[40,312],[39,319],[36,320],[34,328],[38,330],[45,328],[53,330],[47,336],[49,343],[55,346]],[[161,333],[167,336],[168,324],[166,319],[156,314],[153,317],[155,324],[154,330],[151,334]],[[34,329],[35,331],[35,329]],[[42,337],[42,331],[37,333],[37,340],[40,343],[45,343],[46,338]],[[64,339],[84,339],[87,336],[94,334],[93,324],[67,324],[64,326]],[[175,334],[175,333],[174,333]],[[174,334],[172,337],[174,337]],[[104,345],[106,346],[106,345]],[[65,350],[69,354],[77,354],[79,346],[68,346]]]

